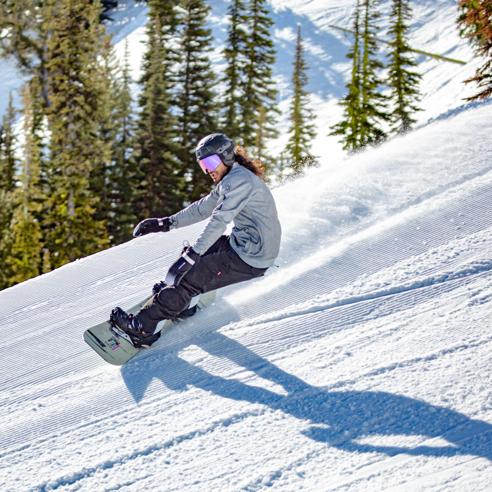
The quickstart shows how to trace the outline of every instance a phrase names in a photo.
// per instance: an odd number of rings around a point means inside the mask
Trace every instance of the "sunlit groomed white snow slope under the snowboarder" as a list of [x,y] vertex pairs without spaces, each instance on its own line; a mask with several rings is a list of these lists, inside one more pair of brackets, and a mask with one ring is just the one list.
[[274,190],[280,268],[122,368],[84,329],[203,223],[0,292],[0,490],[490,490],[491,121]]

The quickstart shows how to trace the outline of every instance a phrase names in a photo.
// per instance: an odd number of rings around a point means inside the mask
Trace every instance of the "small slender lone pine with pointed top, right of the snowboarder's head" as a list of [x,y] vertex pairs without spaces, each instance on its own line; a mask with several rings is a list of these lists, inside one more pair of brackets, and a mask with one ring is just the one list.
[[316,160],[310,154],[310,141],[315,138],[315,119],[313,111],[308,107],[309,93],[306,91],[308,66],[304,60],[304,48],[301,38],[301,26],[297,29],[296,53],[294,56],[294,71],[292,74],[292,85],[294,95],[290,105],[289,132],[291,136],[286,147],[287,155],[295,172],[300,172],[304,167],[313,165]]

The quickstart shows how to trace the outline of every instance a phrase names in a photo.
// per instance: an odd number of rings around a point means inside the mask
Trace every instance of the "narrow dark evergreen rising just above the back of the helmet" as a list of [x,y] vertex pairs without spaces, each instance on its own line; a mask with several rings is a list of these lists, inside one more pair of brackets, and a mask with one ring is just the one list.
[[242,82],[245,69],[245,52],[247,34],[245,26],[247,16],[242,0],[232,0],[228,8],[229,30],[226,45],[222,51],[227,62],[222,82],[224,93],[224,132],[237,144],[242,144],[241,113],[242,113]]

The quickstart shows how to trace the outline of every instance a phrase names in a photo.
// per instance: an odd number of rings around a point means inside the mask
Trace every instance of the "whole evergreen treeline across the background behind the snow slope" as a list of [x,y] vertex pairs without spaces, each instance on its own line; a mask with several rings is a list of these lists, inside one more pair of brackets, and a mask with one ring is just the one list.
[[[1,122],[0,289],[121,244],[138,221],[209,193],[212,182],[193,152],[206,134],[224,132],[245,146],[276,183],[316,165],[300,27],[289,138],[272,156],[267,142],[278,135],[280,112],[267,1],[229,2],[220,73],[210,58],[205,0],[147,3],[142,77],[133,81],[128,47],[118,60],[105,29],[116,0],[0,1],[2,55],[28,80],[22,107],[11,95]],[[419,111],[410,2],[392,0],[386,64],[377,44],[379,3],[355,4],[344,114],[331,128],[349,153],[409,131]],[[492,90],[492,0],[461,0],[459,9],[462,34],[486,61],[467,82],[477,82],[474,97],[484,98]]]

